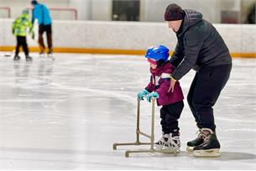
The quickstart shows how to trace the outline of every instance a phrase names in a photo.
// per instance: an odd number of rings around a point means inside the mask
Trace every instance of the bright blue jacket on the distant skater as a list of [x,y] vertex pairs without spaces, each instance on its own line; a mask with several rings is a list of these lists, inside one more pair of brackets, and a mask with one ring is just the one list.
[[37,3],[34,5],[32,23],[34,23],[35,19],[38,19],[39,25],[51,24],[50,11],[44,4]]

